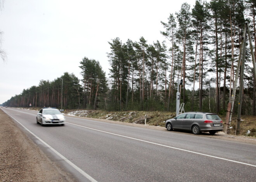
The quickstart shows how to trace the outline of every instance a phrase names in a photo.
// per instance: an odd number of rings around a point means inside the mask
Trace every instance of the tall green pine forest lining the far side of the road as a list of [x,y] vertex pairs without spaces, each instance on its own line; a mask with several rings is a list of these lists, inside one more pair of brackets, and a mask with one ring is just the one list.
[[[165,41],[147,37],[106,40],[110,73],[99,61],[81,58],[83,79],[67,70],[53,81],[40,80],[3,106],[101,109],[106,111],[176,111],[178,78],[185,111],[225,114],[231,102],[243,27],[248,22],[256,56],[256,0],[196,0],[159,22]],[[256,80],[247,39],[244,83],[237,85],[234,112],[242,87],[242,114],[256,115]]]

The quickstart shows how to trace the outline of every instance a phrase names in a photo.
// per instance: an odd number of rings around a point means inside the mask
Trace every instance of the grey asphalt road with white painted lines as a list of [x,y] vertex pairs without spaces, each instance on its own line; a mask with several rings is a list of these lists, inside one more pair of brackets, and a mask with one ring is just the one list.
[[36,112],[2,108],[78,181],[256,180],[256,145],[66,117],[36,124]]

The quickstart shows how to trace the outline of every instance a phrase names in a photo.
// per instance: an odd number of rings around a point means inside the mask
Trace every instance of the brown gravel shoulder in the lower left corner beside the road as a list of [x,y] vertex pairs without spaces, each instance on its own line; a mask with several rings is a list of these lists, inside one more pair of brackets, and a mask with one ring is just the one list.
[[0,182],[71,182],[0,109]]

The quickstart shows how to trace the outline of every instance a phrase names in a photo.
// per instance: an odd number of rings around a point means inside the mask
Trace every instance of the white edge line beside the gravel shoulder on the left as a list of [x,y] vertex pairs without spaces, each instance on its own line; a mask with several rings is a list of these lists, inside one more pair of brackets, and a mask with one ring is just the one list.
[[[6,113],[6,112],[5,112]],[[8,114],[8,113],[7,113]],[[8,114],[9,115],[9,114]],[[10,115],[9,115],[10,116]],[[12,116],[10,116],[12,117]],[[72,163],[70,160],[68,160],[66,157],[61,155],[57,150],[52,148],[50,145],[48,145],[45,141],[43,141],[41,138],[36,136],[34,133],[32,133],[28,128],[26,128],[23,124],[21,124],[19,121],[17,121],[14,117],[12,117],[16,122],[18,122],[23,128],[25,128],[29,133],[31,133],[35,138],[40,140],[44,145],[46,145],[50,150],[52,150],[54,153],[56,153],[59,157],[61,157],[64,161],[66,161],[69,165],[71,165],[74,169],[76,169],[78,172],[80,172],[84,177],[86,177],[91,182],[97,182],[95,179],[93,179],[90,175],[88,175],[86,172],[81,170],[78,166],[76,166],[74,163]]]

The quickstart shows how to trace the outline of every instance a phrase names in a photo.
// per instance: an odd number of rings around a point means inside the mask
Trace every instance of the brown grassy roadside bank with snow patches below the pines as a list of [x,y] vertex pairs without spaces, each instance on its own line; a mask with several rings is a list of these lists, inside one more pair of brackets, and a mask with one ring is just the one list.
[[[145,115],[147,118],[147,125],[150,126],[164,126],[167,119],[175,116],[174,112],[160,112],[160,111],[123,111],[123,112],[106,112],[100,110],[67,110],[67,113],[73,112],[75,116],[92,117],[98,119],[107,119],[113,121],[122,121],[136,124],[145,123]],[[220,116],[225,122],[226,116]],[[230,125],[230,134],[235,134],[236,117],[232,118]],[[249,131],[249,132],[248,132]],[[240,134],[243,136],[256,137],[256,116],[242,116],[240,122]]]

